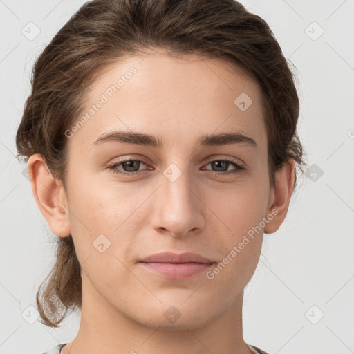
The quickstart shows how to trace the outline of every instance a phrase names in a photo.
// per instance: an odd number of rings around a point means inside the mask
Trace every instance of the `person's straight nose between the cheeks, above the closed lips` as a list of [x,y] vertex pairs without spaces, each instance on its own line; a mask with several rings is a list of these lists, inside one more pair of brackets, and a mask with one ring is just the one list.
[[171,175],[178,172],[165,171],[160,178],[160,187],[156,190],[153,205],[152,226],[160,233],[171,236],[188,236],[201,232],[205,227],[205,205],[201,187],[188,176],[180,173],[175,180]]

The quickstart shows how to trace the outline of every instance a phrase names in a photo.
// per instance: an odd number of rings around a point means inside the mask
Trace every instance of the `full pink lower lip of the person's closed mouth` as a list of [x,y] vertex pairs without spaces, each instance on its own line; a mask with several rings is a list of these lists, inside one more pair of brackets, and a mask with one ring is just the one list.
[[145,268],[172,279],[193,277],[205,272],[214,263],[145,263],[140,262]]

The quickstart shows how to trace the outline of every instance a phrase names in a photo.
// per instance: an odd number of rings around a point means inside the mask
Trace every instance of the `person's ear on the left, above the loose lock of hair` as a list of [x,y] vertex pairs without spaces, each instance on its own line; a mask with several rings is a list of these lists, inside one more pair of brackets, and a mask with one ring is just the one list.
[[33,196],[50,230],[57,236],[69,236],[71,228],[64,187],[50,173],[41,154],[35,153],[28,159],[28,174]]

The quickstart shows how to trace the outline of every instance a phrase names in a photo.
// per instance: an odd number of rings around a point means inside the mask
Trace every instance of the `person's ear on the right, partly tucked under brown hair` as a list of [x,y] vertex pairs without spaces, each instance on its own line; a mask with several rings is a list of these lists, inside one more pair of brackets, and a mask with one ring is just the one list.
[[272,188],[270,207],[267,214],[272,214],[272,218],[264,227],[265,234],[276,232],[283,223],[290,204],[292,190],[295,185],[295,161],[290,158],[283,164],[281,169],[275,174],[275,187]]

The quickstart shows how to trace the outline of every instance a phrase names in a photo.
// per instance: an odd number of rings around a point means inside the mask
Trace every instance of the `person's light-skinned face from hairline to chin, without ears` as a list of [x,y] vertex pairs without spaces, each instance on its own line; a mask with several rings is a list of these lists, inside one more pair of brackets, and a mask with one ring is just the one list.
[[[155,52],[106,68],[85,102],[66,180],[84,296],[156,328],[211,322],[250,281],[275,217],[258,85],[219,59]],[[161,252],[213,263],[141,262]]]

